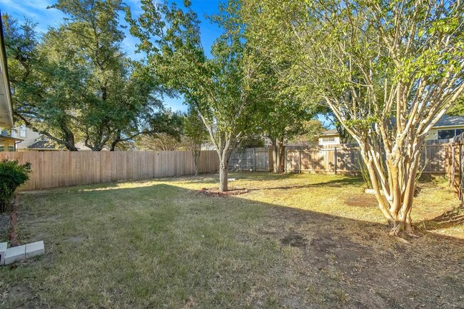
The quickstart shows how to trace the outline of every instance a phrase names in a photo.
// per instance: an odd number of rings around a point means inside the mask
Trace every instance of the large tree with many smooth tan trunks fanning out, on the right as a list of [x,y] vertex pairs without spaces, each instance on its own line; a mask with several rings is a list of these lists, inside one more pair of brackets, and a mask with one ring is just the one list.
[[[464,91],[461,1],[250,1],[288,82],[331,108],[360,145],[390,233],[412,231],[420,152]],[[264,49],[264,47],[263,47]]]

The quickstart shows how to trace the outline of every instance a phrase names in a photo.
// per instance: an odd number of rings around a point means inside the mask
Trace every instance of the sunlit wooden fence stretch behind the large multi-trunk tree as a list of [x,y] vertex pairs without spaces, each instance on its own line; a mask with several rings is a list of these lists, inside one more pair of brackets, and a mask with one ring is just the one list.
[[[448,143],[428,143],[420,157],[422,173],[444,175]],[[317,150],[287,150],[285,169],[288,173],[357,174],[363,158],[355,146],[338,146]]]

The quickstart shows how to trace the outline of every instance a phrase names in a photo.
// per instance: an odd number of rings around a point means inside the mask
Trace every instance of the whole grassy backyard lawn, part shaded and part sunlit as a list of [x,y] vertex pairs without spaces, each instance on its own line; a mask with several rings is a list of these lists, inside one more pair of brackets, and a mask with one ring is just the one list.
[[[464,308],[457,206],[422,183],[420,238],[388,236],[359,178],[236,173],[250,193],[164,178],[21,194],[19,240],[46,255],[0,268],[5,308]],[[428,230],[428,231],[427,231]]]

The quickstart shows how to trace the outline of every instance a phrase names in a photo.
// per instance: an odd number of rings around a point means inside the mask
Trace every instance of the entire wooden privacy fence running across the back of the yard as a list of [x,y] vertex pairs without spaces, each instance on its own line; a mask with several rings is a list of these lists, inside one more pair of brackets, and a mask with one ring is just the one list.
[[[448,174],[460,193],[463,183],[461,148],[463,141],[428,144],[422,153],[423,173]],[[453,156],[454,153],[454,156]],[[195,173],[190,151],[44,151],[1,152],[0,160],[9,158],[30,162],[32,173],[21,190],[79,186],[110,181],[130,181]],[[453,161],[454,160],[454,161]],[[359,173],[359,149],[356,147],[301,150],[288,148],[284,166],[287,173]],[[216,173],[216,151],[202,151],[200,173]],[[247,148],[233,153],[231,171],[272,171],[273,156],[269,148]],[[452,173],[455,171],[454,173]],[[458,189],[459,186],[459,189]]]

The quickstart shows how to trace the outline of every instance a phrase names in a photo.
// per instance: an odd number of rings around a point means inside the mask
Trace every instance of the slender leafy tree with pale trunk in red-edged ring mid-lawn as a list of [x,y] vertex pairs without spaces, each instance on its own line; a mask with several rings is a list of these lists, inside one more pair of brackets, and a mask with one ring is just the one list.
[[243,41],[238,8],[221,6],[213,17],[223,29],[209,59],[201,45],[199,21],[191,9],[141,1],[143,14],[131,33],[141,39],[153,71],[198,111],[220,161],[219,191],[228,191],[228,161],[234,148],[254,127],[256,101],[248,84],[251,62]]

